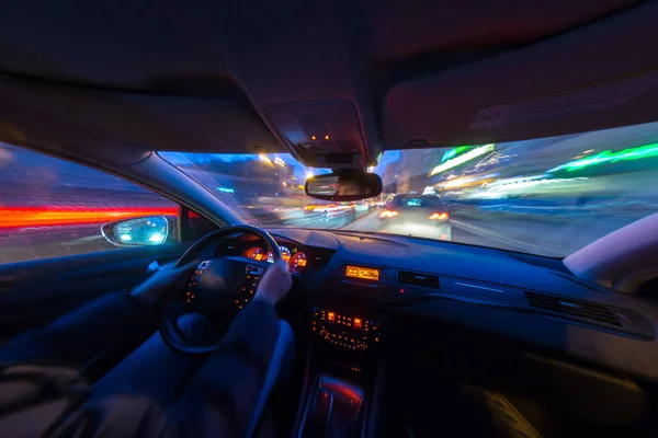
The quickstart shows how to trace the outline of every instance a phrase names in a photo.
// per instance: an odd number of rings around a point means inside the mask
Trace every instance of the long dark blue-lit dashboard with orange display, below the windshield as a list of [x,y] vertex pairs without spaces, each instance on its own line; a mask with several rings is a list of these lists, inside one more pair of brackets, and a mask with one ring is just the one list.
[[[364,349],[402,320],[434,321],[658,381],[658,368],[645,366],[658,362],[658,304],[578,278],[559,260],[375,233],[268,231],[327,342]],[[214,249],[226,254],[269,257],[251,237]],[[376,328],[356,325],[366,321]]]

